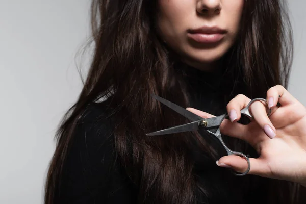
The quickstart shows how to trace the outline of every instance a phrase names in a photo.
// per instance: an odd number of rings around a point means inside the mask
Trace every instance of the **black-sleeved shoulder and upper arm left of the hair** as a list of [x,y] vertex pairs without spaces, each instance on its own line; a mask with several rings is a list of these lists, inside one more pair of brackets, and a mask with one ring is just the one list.
[[114,116],[110,115],[105,104],[91,104],[81,114],[63,164],[62,200],[95,203],[131,199],[129,178],[116,159]]

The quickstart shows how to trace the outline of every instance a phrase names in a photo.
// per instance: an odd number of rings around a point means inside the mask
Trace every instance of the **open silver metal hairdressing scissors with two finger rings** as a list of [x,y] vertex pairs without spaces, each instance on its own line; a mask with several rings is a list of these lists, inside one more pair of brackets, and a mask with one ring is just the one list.
[[[151,96],[154,97],[155,99],[157,99],[158,101],[160,101],[160,103],[162,103],[162,104],[166,105],[167,107],[169,107],[170,109],[174,110],[175,112],[183,115],[184,117],[189,119],[191,122],[187,123],[187,124],[179,125],[179,126],[170,127],[168,129],[148,133],[148,134],[146,134],[147,136],[166,135],[166,134],[172,134],[172,133],[181,133],[181,132],[205,129],[207,132],[211,133],[213,136],[215,136],[216,138],[219,139],[219,141],[221,142],[221,144],[225,148],[225,150],[227,152],[227,155],[237,155],[237,156],[240,156],[240,157],[246,159],[247,164],[248,164],[247,170],[243,173],[238,173],[238,172],[235,173],[234,172],[235,175],[243,176],[243,175],[246,175],[249,172],[249,170],[250,170],[249,156],[246,156],[242,152],[232,151],[230,148],[228,148],[225,145],[224,141],[222,140],[221,132],[220,132],[220,125],[221,125],[222,121],[228,116],[227,113],[225,113],[223,115],[220,115],[220,116],[204,119],[204,118],[186,110],[185,108],[182,108],[182,107],[170,102],[169,100],[166,100],[166,99],[164,99],[162,97],[159,97],[157,95],[154,95],[154,94],[151,94]],[[255,99],[251,100],[248,103],[248,105],[240,111],[240,113],[242,115],[247,116],[250,119],[253,119],[252,115],[249,112],[249,107],[254,102],[260,101],[260,100],[267,103],[267,100],[264,99],[264,98],[255,98]],[[268,110],[267,114],[268,114],[268,116],[270,116],[271,109]]]

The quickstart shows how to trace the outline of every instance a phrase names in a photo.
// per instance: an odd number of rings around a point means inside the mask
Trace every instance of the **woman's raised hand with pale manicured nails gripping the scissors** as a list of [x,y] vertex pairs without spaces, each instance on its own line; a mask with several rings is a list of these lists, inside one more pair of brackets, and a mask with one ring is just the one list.
[[[267,102],[272,109],[268,117],[266,106],[257,101],[250,106],[254,118],[249,124],[237,123],[240,110],[251,99],[237,95],[227,105],[230,120],[223,120],[222,134],[243,139],[257,150],[260,157],[250,158],[248,174],[297,182],[306,186],[306,108],[281,85],[267,91]],[[281,107],[276,106],[277,103]],[[214,117],[193,108],[187,110],[203,117]],[[247,169],[247,162],[239,156],[224,156],[217,161],[221,167],[237,172]]]

